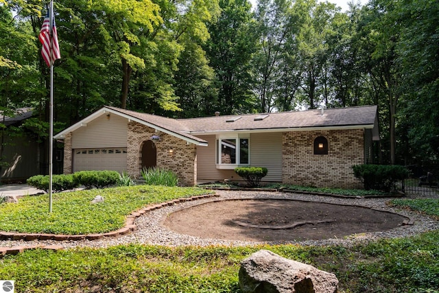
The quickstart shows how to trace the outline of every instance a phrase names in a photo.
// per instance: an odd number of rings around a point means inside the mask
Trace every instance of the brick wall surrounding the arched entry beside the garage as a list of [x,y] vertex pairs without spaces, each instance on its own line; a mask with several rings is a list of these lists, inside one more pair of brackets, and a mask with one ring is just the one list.
[[[164,167],[176,172],[181,185],[191,186],[196,184],[197,178],[197,153],[196,145],[187,144],[186,141],[172,135],[155,132],[153,128],[137,122],[128,123],[128,148],[127,172],[131,176],[141,176],[143,142],[150,140],[152,135],[159,135],[160,141],[156,142],[157,167]],[[169,150],[173,152],[170,153]]]

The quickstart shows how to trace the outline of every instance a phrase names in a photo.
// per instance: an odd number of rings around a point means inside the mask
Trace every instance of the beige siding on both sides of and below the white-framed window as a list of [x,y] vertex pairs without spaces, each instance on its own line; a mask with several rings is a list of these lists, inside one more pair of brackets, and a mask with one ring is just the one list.
[[[200,136],[201,137],[201,136]],[[215,135],[202,136],[209,146],[197,147],[198,180],[240,180],[233,169],[217,169],[215,165]],[[250,136],[250,165],[267,167],[264,181],[282,181],[282,133],[252,134]]]

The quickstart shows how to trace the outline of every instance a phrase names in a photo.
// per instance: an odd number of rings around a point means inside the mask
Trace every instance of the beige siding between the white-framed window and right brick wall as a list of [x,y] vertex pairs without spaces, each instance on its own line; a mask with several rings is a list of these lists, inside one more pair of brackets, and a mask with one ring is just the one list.
[[255,167],[266,167],[263,181],[282,181],[282,133],[255,133],[250,137],[250,161]]

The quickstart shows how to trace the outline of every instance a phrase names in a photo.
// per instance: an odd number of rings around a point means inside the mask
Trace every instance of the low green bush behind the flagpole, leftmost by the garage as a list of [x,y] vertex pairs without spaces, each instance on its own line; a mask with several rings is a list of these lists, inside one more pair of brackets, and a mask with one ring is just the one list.
[[[27,179],[27,184],[49,192],[49,175],[36,175]],[[73,175],[53,175],[52,176],[52,191],[60,192],[64,190],[71,190],[78,187],[79,184],[73,179]]]

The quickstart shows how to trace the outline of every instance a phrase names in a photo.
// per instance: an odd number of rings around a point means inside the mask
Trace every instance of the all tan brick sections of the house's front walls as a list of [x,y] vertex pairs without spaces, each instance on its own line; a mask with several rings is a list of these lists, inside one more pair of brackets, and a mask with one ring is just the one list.
[[[156,142],[158,167],[176,172],[181,185],[197,182],[197,147],[164,132],[134,121],[128,123],[127,172],[141,177],[142,147],[152,135]],[[314,154],[314,140],[328,141],[328,154]],[[172,152],[169,152],[172,150]],[[352,165],[364,163],[363,130],[326,130],[283,132],[282,182],[315,187],[363,188],[353,176]],[[72,134],[64,138],[64,174],[71,174],[73,165]]]

